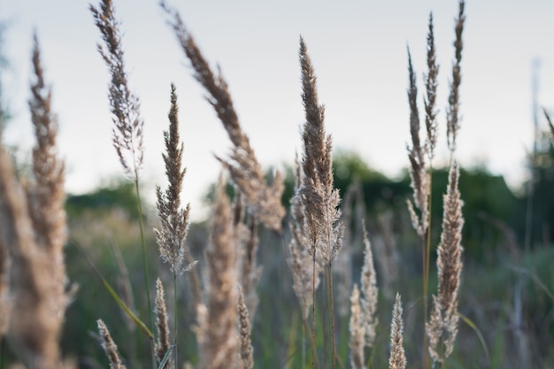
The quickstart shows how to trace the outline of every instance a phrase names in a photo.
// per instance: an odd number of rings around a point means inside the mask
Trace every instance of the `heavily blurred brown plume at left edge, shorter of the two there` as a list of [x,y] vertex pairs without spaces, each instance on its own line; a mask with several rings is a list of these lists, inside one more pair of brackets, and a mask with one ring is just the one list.
[[50,265],[35,243],[27,197],[0,147],[0,243],[12,256],[8,336],[29,367],[58,368],[60,327],[51,310]]

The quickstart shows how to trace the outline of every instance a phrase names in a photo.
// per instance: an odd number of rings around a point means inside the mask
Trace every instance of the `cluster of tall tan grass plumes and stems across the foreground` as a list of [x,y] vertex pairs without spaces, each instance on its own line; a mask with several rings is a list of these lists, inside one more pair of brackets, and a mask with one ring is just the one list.
[[[397,263],[395,242],[391,241],[394,231],[387,218],[381,217],[379,223],[387,246],[376,249],[370,242],[373,234],[365,226],[359,188],[353,185],[341,194],[335,187],[332,133],[326,129],[325,109],[318,96],[314,66],[317,62],[310,58],[308,42],[300,37],[298,51],[299,101],[305,113],[303,149],[296,156],[294,194],[283,201],[284,174],[274,171],[267,175],[259,164],[250,138],[242,130],[225,78],[204,57],[179,12],[165,2],[160,4],[165,21],[189,60],[193,76],[204,88],[207,103],[227,131],[232,150],[227,157],[216,157],[221,175],[215,188],[209,237],[198,253],[192,247],[195,241],[189,240],[190,206],[185,204],[186,194],[181,191],[183,181],[194,181],[187,177],[187,164],[182,159],[187,140],[194,138],[180,135],[178,88],[168,81],[168,126],[160,160],[165,165],[167,187],[156,188],[158,219],[157,225],[150,227],[151,222],[143,219],[140,181],[143,127],[149,123],[142,119],[140,99],[130,86],[123,31],[115,6],[112,0],[101,0],[91,4],[89,10],[102,40],[98,51],[111,77],[108,104],[113,147],[123,173],[135,188],[138,225],[133,231],[138,233],[142,258],[141,279],[137,280],[129,276],[118,246],[112,245],[122,277],[117,288],[113,287],[116,282],[105,278],[106,271],[92,261],[89,254],[94,251],[80,245],[78,237],[67,232],[64,164],[56,142],[58,122],[50,109],[50,88],[44,81],[41,50],[35,36],[35,81],[29,101],[36,140],[31,175],[27,178],[17,173],[9,152],[0,148],[0,367],[9,365],[14,355],[14,362],[38,369],[106,364],[112,369],[362,369],[384,367],[387,363],[390,369],[481,367],[460,365],[459,357],[451,359],[462,324],[474,342],[479,342],[473,345],[478,351],[475,357],[488,354],[480,328],[459,309],[461,304],[471,304],[460,301],[465,274],[465,220],[456,153],[461,129],[459,89],[465,6],[460,0],[454,24],[444,137],[439,135],[443,131],[437,108],[440,69],[436,64],[432,14],[428,19],[424,73],[425,127],[420,122],[417,73],[407,50],[410,116],[406,117],[406,129],[412,138],[407,145],[407,163],[412,198],[404,206],[404,214],[412,224],[408,231],[417,240],[412,242],[416,247],[412,255],[418,255],[420,260],[415,283],[419,288],[409,298],[393,289],[399,285],[398,269],[403,265]],[[551,124],[550,128],[554,135]],[[436,227],[431,202],[433,160],[436,143],[442,139],[450,149],[450,169],[447,186],[442,188],[442,222]],[[361,227],[352,232],[353,224]],[[438,233],[440,238],[435,244],[434,234]],[[70,246],[66,246],[70,238]],[[289,343],[284,345],[260,343],[271,342],[272,337],[267,335],[273,333],[264,327],[269,322],[256,319],[262,313],[267,316],[266,311],[259,311],[260,306],[266,309],[263,298],[273,294],[258,288],[265,272],[258,250],[273,247],[268,240],[279,244],[278,254],[289,267],[280,273],[289,275],[291,293],[296,296],[296,308],[290,309],[296,311],[296,319],[289,320]],[[363,245],[363,256],[360,262],[354,262],[353,247],[358,240]],[[154,244],[161,263],[150,258]],[[104,364],[65,357],[61,348],[65,311],[72,304],[79,304],[80,294],[88,288],[100,288],[73,286],[65,272],[65,252],[69,247],[82,252],[81,258],[91,265],[89,273],[100,281],[97,286],[104,286],[95,292],[99,301],[113,300],[121,312],[121,319],[94,317],[97,332],[90,333],[88,340],[103,348],[105,357],[98,361]],[[270,283],[270,288],[280,285],[280,281]],[[136,296],[136,291],[140,296]],[[406,301],[410,304],[406,305]],[[406,314],[410,319],[406,319]],[[112,323],[106,323],[107,319]],[[405,336],[406,329],[409,336]],[[4,347],[6,342],[9,348]],[[278,351],[283,346],[286,350]],[[275,352],[271,354],[258,351],[272,349]],[[272,357],[273,361],[263,357]],[[490,358],[484,362],[490,364]]]

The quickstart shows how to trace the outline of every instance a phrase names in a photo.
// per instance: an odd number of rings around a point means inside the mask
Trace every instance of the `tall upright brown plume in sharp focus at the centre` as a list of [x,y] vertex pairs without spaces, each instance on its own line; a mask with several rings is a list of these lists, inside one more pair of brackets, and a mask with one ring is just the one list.
[[305,123],[303,128],[303,181],[296,196],[304,206],[304,244],[312,256],[319,253],[332,263],[342,246],[344,227],[339,221],[341,197],[333,187],[331,135],[325,132],[324,108],[319,105],[317,78],[304,39],[300,37],[300,67],[302,70],[302,100]]

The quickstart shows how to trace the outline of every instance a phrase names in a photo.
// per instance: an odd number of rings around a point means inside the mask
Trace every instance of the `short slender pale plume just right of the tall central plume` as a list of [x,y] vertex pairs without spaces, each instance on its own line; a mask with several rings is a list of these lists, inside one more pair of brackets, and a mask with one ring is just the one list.
[[367,238],[367,231],[364,225],[364,266],[362,267],[361,289],[364,295],[360,304],[362,305],[361,323],[365,327],[365,346],[373,347],[375,342],[375,328],[379,323],[377,317],[377,300],[379,288],[377,288],[377,279],[375,277],[375,265],[373,265],[372,247]]

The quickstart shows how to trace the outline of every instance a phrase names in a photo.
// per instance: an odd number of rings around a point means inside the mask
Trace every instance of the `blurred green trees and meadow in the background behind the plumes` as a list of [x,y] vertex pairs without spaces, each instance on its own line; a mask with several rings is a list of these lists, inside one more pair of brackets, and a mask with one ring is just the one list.
[[[478,331],[466,323],[460,333],[450,367],[548,367],[554,365],[554,248],[551,246],[554,219],[554,150],[544,137],[532,161],[535,181],[530,184],[534,204],[533,227],[526,248],[527,193],[516,195],[502,176],[490,174],[485,167],[462,169],[459,188],[466,219],[465,248],[460,312]],[[334,160],[335,185],[340,188],[343,211],[348,215],[350,233],[342,253],[347,256],[346,270],[335,265],[337,305],[342,311],[338,322],[339,352],[348,365],[348,317],[351,284],[359,281],[362,264],[360,222],[364,221],[377,267],[380,286],[379,337],[371,367],[387,365],[389,321],[392,297],[403,295],[405,306],[405,344],[409,362],[418,367],[422,332],[421,257],[419,238],[412,230],[405,201],[412,196],[409,175],[396,179],[373,170],[355,152],[337,151]],[[293,169],[286,167],[287,189],[283,203],[289,205],[293,193]],[[435,249],[441,232],[442,194],[447,169],[433,173],[433,241]],[[132,286],[137,311],[145,316],[139,230],[136,221],[135,189],[125,180],[113,181],[86,194],[67,196],[66,211],[71,239],[66,248],[66,264],[71,282],[79,292],[67,312],[62,346],[67,356],[80,357],[81,367],[105,367],[104,353],[96,341],[96,319],[112,327],[124,357],[136,357],[141,340],[111,297],[91,272],[75,243],[84,248],[104,276],[125,295],[126,279]],[[232,188],[230,188],[232,192]],[[206,189],[205,202],[212,201],[212,188]],[[347,209],[348,208],[348,209]],[[150,260],[158,260],[151,233],[157,227],[155,209],[143,214],[149,232]],[[363,219],[363,220],[362,220]],[[285,220],[287,222],[287,220]],[[260,304],[254,317],[252,339],[256,367],[301,367],[302,321],[293,293],[286,245],[289,234],[260,231],[258,264],[263,274],[258,285]],[[203,252],[209,242],[209,222],[195,223],[188,242],[197,266],[202,271]],[[119,258],[119,253],[122,258]],[[434,256],[433,256],[434,258]],[[122,265],[121,260],[124,260]],[[158,262],[159,263],[159,262]],[[127,271],[125,270],[127,269]],[[164,274],[164,267],[157,268]],[[155,269],[156,270],[156,269]],[[345,275],[347,273],[348,275]],[[435,288],[435,264],[430,285]],[[180,280],[181,349],[183,358],[195,362],[196,343],[191,330],[189,281]],[[344,293],[346,292],[346,293]],[[433,292],[433,291],[432,291]],[[345,305],[340,308],[340,305]],[[323,312],[325,313],[325,312]],[[482,337],[480,338],[480,334]],[[483,340],[481,342],[481,339]],[[137,346],[139,345],[139,346]],[[148,352],[148,350],[145,350]],[[140,357],[140,354],[138,355]]]

